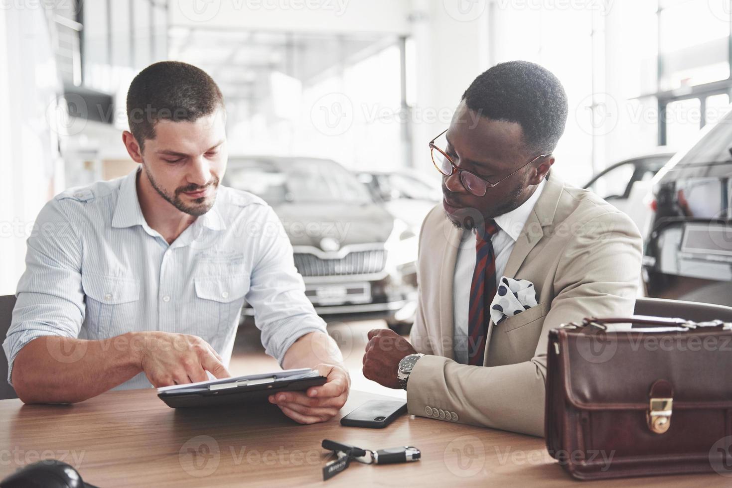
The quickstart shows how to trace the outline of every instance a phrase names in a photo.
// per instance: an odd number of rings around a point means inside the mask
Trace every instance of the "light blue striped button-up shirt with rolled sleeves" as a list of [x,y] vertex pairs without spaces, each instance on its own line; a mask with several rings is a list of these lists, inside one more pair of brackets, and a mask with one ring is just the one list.
[[[69,189],[40,211],[3,342],[9,382],[18,351],[48,335],[193,334],[228,366],[244,300],[266,353],[280,364],[298,337],[325,332],[283,225],[264,200],[220,186],[212,208],[168,245],[143,217],[139,170]],[[140,373],[116,389],[149,386]]]

